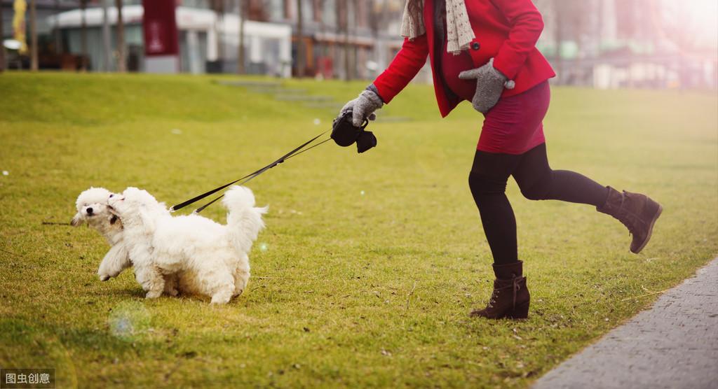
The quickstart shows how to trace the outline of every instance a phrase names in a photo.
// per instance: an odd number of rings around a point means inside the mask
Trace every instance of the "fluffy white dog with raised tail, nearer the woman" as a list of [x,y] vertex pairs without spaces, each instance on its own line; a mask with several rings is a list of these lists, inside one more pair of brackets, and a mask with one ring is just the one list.
[[225,193],[225,226],[197,214],[172,217],[162,203],[138,188],[127,188],[108,204],[123,223],[135,277],[146,298],[162,294],[167,274],[182,274],[180,290],[210,296],[215,304],[229,302],[246,288],[247,254],[267,211],[254,206],[249,188],[233,186]]

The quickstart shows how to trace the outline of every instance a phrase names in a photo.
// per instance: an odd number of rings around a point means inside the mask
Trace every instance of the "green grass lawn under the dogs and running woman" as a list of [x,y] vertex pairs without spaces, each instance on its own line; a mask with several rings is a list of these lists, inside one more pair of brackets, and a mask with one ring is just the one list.
[[[0,75],[0,367],[55,368],[58,388],[521,388],[718,254],[716,95],[554,88],[551,165],[663,216],[634,255],[617,221],[511,181],[531,316],[470,319],[493,279],[467,185],[481,117],[465,103],[442,120],[413,85],[381,112],[410,121],[370,126],[378,148],[327,143],[251,182],[270,211],[243,296],[146,301],[131,270],[100,282],[101,236],[42,224],[69,222],[80,191],[178,203],[330,128],[330,110],[217,79]],[[365,82],[287,85],[340,101]]]

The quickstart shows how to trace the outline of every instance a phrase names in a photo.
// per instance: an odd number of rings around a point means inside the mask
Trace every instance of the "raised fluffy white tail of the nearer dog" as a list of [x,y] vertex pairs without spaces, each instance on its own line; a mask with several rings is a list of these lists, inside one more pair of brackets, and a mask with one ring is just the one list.
[[269,207],[254,206],[254,194],[246,186],[231,186],[225,193],[222,203],[227,208],[227,226],[233,243],[238,250],[248,252],[264,228],[262,215]]

